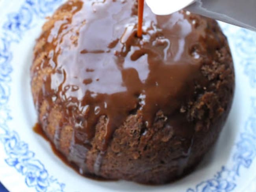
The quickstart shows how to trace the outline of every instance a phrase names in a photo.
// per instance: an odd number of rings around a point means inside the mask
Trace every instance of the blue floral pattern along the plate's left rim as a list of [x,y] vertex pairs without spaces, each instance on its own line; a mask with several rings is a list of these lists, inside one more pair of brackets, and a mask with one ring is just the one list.
[[35,153],[29,150],[28,144],[7,126],[7,122],[12,120],[8,109],[10,75],[13,71],[10,46],[22,40],[24,32],[33,27],[33,19],[52,13],[61,2],[62,0],[26,0],[17,12],[7,15],[7,21],[1,27],[0,33],[0,129],[4,131],[0,135],[0,141],[8,156],[6,163],[24,175],[26,185],[34,187],[38,192],[62,192],[65,185],[48,174]]

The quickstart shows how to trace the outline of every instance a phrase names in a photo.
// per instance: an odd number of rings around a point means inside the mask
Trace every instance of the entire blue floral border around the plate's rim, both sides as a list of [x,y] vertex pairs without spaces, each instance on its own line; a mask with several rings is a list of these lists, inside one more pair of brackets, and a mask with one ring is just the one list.
[[[25,0],[17,12],[9,13],[3,26],[0,26],[0,142],[4,146],[6,164],[24,175],[24,182],[38,192],[63,192],[65,184],[48,174],[45,166],[26,142],[7,123],[12,120],[8,108],[11,95],[12,55],[10,46],[22,40],[24,32],[30,30],[32,21],[44,18],[52,13],[63,0]],[[224,31],[234,41],[235,54],[241,58],[244,74],[249,78],[250,86],[256,89],[256,34],[252,31],[221,24]],[[250,47],[250,49],[248,49]],[[249,169],[256,157],[256,97],[251,97],[251,114],[234,146],[232,164],[224,165],[211,179],[202,181],[187,192],[230,192],[236,188],[241,169]]]

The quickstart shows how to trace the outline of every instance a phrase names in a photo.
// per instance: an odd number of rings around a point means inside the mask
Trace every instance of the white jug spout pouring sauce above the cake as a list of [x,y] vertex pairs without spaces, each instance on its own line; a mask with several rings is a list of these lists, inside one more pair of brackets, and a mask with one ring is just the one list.
[[180,9],[256,31],[256,0],[146,0],[156,15]]

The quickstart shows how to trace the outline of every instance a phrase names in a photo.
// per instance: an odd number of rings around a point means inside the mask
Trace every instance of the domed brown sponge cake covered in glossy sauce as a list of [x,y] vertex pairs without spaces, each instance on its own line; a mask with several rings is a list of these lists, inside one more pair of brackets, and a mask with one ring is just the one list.
[[172,181],[216,141],[234,66],[215,20],[137,2],[69,0],[43,26],[31,67],[39,124],[81,174]]

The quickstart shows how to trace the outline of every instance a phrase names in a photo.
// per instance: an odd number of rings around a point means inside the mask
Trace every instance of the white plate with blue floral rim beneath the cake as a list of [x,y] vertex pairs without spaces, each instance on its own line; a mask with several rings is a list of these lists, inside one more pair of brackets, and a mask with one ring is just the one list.
[[256,33],[221,23],[236,68],[236,92],[215,147],[168,185],[100,182],[78,175],[32,131],[32,49],[45,17],[63,0],[0,0],[0,181],[11,192],[241,192],[256,177]]

